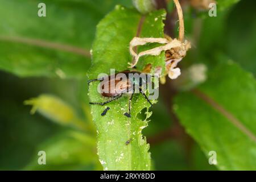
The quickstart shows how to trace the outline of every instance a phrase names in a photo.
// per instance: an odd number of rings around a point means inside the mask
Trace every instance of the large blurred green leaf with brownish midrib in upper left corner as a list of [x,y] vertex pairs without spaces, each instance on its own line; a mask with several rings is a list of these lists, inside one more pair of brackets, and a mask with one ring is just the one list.
[[96,24],[117,1],[46,0],[46,17],[38,16],[40,2],[0,0],[0,69],[84,77]]

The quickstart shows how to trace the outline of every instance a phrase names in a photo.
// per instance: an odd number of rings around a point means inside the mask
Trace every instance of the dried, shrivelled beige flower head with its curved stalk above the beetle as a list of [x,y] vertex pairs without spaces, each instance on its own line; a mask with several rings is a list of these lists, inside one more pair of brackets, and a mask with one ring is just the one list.
[[[186,55],[189,48],[191,48],[191,44],[184,40],[184,19],[183,13],[178,0],[174,0],[176,5],[177,14],[179,16],[179,38],[172,39],[169,36],[165,36],[165,38],[138,38],[134,37],[130,42],[130,53],[133,56],[133,61],[130,64],[130,68],[135,67],[138,63],[139,58],[144,55],[152,55],[158,56],[162,51],[165,51],[166,55],[166,72],[164,76],[168,75],[171,79],[177,78],[180,73],[180,68],[177,67],[177,63],[183,59]],[[142,52],[135,52],[134,47],[143,46],[147,43],[159,43],[163,44],[163,46],[155,47]],[[157,72],[162,72],[162,69],[157,69]],[[161,82],[164,82],[164,79]]]

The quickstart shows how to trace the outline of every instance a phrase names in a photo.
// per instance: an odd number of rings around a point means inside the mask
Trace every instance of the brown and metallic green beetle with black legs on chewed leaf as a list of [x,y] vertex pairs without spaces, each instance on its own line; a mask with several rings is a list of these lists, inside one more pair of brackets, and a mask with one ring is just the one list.
[[[118,74],[123,73],[125,76],[125,79],[118,79]],[[110,100],[105,101],[105,102],[89,102],[89,104],[92,105],[105,105],[108,104],[109,102],[112,102],[114,100],[117,100],[118,98],[122,97],[123,94],[128,94],[131,93],[130,99],[129,99],[129,113],[124,113],[126,117],[131,117],[131,100],[133,99],[133,95],[135,93],[135,86],[138,86],[139,88],[139,93],[143,94],[144,98],[146,98],[147,102],[151,104],[150,100],[147,98],[146,94],[143,92],[142,88],[143,86],[146,86],[147,82],[149,82],[151,79],[150,74],[147,73],[141,73],[139,71],[129,71],[125,70],[122,72],[119,72],[110,76],[102,77],[102,78],[96,78],[88,81],[88,85],[90,82],[93,81],[100,81],[100,91],[101,91],[101,96],[103,97],[108,97]],[[131,79],[129,78],[130,75],[133,74],[138,74],[140,75],[139,80],[138,79]],[[105,86],[107,88],[105,88]],[[107,90],[107,92],[106,92]]]

